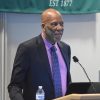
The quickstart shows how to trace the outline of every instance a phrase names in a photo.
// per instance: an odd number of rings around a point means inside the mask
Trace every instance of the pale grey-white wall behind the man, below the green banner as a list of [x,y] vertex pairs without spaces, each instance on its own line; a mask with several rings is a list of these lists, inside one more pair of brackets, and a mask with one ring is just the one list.
[[[99,81],[100,70],[100,14],[84,14],[84,15],[63,15],[64,18],[64,35],[62,40],[71,46],[72,57],[77,56],[80,63],[86,69],[92,81]],[[10,81],[11,70],[13,67],[13,60],[15,57],[18,45],[28,40],[41,32],[41,23],[39,14],[4,14],[4,29],[0,32],[0,48],[3,48],[1,42],[1,34],[4,35],[4,54],[0,49],[0,62],[4,56],[4,66],[0,64],[4,83],[4,91],[0,91],[0,95],[4,99],[9,100],[7,93],[7,85]],[[2,57],[1,57],[2,56]],[[88,81],[82,68],[74,63],[71,57],[71,75],[73,82]],[[1,74],[0,74],[1,75]],[[1,77],[0,77],[1,79]]]

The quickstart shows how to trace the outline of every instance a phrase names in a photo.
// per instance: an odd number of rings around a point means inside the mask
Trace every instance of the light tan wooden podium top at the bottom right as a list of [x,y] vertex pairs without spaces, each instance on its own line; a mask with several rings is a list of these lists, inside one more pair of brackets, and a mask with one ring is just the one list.
[[70,94],[54,100],[100,100],[100,94]]

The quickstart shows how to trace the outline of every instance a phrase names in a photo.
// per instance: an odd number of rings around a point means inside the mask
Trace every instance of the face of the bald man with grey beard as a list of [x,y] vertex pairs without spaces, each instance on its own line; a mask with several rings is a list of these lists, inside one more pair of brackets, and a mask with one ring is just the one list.
[[51,16],[48,22],[44,24],[43,30],[45,38],[49,42],[52,44],[59,42],[64,30],[62,17],[60,15]]

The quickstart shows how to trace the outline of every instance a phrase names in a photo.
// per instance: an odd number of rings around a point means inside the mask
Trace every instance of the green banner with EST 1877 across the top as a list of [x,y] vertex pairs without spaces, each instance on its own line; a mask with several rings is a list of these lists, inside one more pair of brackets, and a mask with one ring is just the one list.
[[55,8],[62,14],[100,12],[100,0],[0,0],[0,12],[41,13]]

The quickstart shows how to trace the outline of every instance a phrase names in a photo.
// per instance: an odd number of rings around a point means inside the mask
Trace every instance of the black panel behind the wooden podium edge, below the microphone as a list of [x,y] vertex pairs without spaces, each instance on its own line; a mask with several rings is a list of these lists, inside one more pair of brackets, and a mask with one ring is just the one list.
[[67,94],[95,94],[100,93],[100,82],[74,82],[70,83]]

